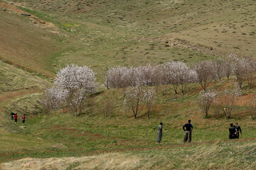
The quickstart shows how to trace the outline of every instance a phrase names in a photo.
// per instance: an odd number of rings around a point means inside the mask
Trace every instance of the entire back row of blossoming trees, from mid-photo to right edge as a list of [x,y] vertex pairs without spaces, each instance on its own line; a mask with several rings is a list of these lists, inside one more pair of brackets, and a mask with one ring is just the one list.
[[225,59],[196,62],[191,68],[184,62],[172,61],[155,66],[149,64],[140,67],[112,67],[107,71],[106,86],[109,89],[172,84],[176,94],[178,87],[181,87],[181,92],[184,94],[188,83],[198,82],[206,91],[210,81],[218,81],[223,77],[229,79],[233,75],[240,89],[245,80],[252,88],[256,62],[250,58],[240,58],[230,54]]

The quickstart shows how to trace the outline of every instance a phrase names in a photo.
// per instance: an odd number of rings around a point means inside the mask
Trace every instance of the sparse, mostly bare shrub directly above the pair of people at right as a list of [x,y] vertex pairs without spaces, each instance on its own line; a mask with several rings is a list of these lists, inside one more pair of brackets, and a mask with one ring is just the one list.
[[219,92],[217,103],[226,118],[230,118],[235,102],[240,95],[241,92],[237,84],[230,85],[224,91]]

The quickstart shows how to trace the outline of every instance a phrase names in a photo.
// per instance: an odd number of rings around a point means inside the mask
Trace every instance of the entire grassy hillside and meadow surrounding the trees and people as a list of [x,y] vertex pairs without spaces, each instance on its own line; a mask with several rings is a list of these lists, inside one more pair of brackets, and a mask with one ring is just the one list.
[[[193,64],[230,52],[255,57],[255,7],[254,0],[0,1],[0,169],[255,169],[249,105],[255,88],[244,86],[230,119],[215,103],[204,117],[199,84],[185,95],[160,86],[150,119],[145,107],[137,119],[125,115],[123,89],[100,88],[80,116],[67,108],[44,115],[41,106],[43,89],[68,63],[89,66],[100,81],[117,65]],[[210,89],[222,91],[233,80]],[[104,117],[108,102],[114,108]],[[18,113],[17,124],[10,112]],[[184,145],[188,119],[193,142]],[[161,121],[164,138],[157,145]],[[228,140],[235,122],[242,139]]]

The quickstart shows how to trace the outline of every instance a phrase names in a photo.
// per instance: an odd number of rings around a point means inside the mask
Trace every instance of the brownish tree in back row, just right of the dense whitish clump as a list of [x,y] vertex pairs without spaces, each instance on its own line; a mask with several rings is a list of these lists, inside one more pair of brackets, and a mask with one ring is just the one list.
[[216,71],[213,62],[197,62],[194,66],[194,69],[198,74],[199,83],[203,87],[203,90],[206,91],[210,81],[212,81],[216,77]]

